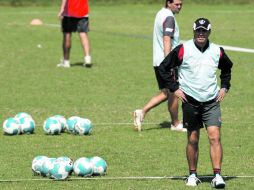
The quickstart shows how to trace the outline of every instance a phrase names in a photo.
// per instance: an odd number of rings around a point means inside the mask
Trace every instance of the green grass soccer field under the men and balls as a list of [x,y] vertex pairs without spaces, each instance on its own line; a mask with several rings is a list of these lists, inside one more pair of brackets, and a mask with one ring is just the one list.
[[[186,5],[177,16],[181,38],[192,38],[198,17],[212,22],[211,40],[218,44],[254,48],[254,7]],[[30,113],[33,135],[0,136],[1,189],[189,189],[183,179],[116,179],[188,174],[186,134],[171,132],[166,104],[146,117],[143,131],[132,128],[132,111],[155,93],[152,68],[152,29],[161,5],[91,6],[89,37],[94,66],[82,67],[79,38],[73,35],[70,69],[56,68],[61,58],[58,7],[0,7],[0,123],[16,113]],[[42,26],[30,26],[40,18]],[[39,46],[38,46],[39,45]],[[254,188],[254,54],[226,51],[234,62],[232,88],[222,103],[222,175],[228,189]],[[94,124],[90,136],[46,136],[46,118],[62,114],[87,117]],[[211,175],[208,140],[200,139],[199,175]],[[97,180],[39,181],[31,162],[49,157],[100,156],[108,173]],[[252,176],[235,178],[234,176]],[[111,178],[107,179],[107,178]],[[24,181],[15,182],[17,179]],[[46,178],[47,179],[47,178]],[[3,182],[10,180],[9,182]],[[38,180],[38,181],[36,181]],[[198,189],[211,189],[203,179]]]

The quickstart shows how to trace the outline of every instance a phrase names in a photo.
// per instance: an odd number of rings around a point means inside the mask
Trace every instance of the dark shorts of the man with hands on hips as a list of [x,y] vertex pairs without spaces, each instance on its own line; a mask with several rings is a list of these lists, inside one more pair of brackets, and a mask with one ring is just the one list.
[[209,126],[221,126],[220,103],[215,99],[199,102],[186,95],[188,102],[182,103],[183,124],[189,131]]

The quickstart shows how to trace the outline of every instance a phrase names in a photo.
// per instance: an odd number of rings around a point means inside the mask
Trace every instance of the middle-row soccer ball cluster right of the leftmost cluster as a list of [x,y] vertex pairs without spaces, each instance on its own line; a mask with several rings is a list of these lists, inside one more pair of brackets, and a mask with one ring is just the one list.
[[71,134],[89,135],[92,131],[92,122],[78,116],[66,120],[61,115],[55,115],[44,121],[43,130],[47,135],[58,135],[65,130]]

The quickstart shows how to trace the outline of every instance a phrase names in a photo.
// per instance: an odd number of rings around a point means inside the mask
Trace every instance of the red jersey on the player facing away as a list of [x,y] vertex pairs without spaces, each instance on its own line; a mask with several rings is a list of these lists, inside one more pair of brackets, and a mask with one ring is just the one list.
[[88,17],[88,0],[67,0],[63,15],[67,17]]

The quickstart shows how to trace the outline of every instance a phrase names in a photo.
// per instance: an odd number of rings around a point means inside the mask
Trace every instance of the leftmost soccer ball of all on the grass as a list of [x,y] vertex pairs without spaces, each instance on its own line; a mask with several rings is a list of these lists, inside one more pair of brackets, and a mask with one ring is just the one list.
[[18,120],[13,117],[6,119],[3,123],[3,131],[6,135],[18,135],[21,131]]

